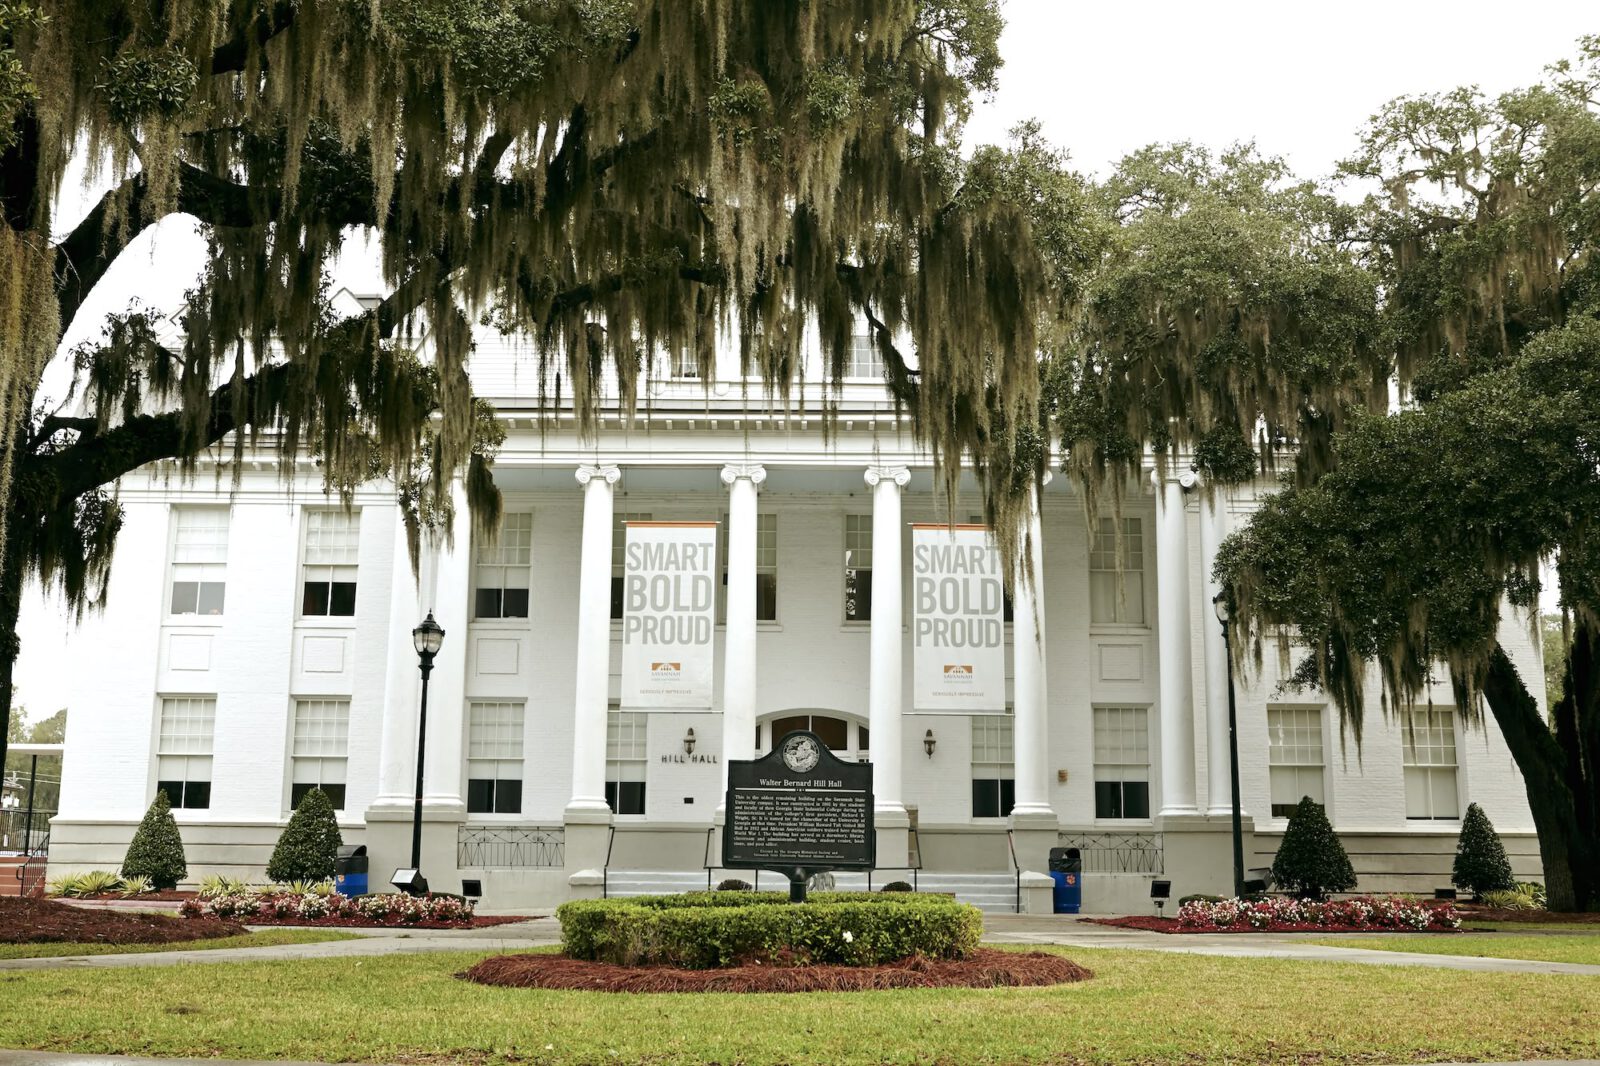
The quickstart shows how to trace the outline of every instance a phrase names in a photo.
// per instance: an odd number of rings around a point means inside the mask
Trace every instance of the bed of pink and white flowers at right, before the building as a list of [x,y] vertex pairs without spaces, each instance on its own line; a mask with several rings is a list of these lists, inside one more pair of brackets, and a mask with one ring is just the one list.
[[1461,928],[1461,914],[1450,903],[1410,896],[1355,896],[1354,900],[1194,900],[1178,908],[1178,928],[1206,932],[1366,932],[1411,933]]

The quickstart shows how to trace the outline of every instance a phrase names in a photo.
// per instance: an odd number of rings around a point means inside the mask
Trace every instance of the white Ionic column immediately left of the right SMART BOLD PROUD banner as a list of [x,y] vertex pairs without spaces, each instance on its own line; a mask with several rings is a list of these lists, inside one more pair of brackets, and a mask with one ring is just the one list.
[[910,482],[910,471],[904,466],[869,466],[866,482],[872,487],[872,664],[867,671],[872,820],[878,836],[878,866],[898,869],[910,855],[910,820],[906,815],[901,773],[906,656],[901,488]]

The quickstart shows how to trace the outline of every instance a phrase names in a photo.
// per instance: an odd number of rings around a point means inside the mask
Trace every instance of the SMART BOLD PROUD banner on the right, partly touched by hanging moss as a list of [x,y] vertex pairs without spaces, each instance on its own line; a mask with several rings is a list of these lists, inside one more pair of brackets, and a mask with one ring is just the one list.
[[1005,579],[981,525],[910,530],[915,711],[1005,714]]

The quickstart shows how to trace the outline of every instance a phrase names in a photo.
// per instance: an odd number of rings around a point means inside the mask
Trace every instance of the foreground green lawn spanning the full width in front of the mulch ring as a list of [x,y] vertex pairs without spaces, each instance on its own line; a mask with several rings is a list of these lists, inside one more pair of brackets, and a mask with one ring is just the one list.
[[467,984],[482,952],[0,973],[0,1047],[366,1063],[1600,1056],[1600,978],[1062,949],[1050,989],[619,996]]

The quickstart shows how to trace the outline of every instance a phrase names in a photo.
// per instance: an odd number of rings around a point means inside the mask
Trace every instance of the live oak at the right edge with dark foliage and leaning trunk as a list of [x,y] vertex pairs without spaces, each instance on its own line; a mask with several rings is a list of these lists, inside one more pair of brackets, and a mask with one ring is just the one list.
[[[1352,411],[1336,464],[1269,499],[1218,575],[1258,655],[1274,632],[1310,650],[1298,680],[1357,739],[1370,666],[1386,711],[1435,675],[1469,723],[1486,707],[1549,906],[1600,906],[1600,38],[1531,90],[1395,101],[1346,170],[1382,189],[1363,256],[1413,403]],[[1571,634],[1549,717],[1499,642],[1506,605],[1536,632],[1546,560]]]

